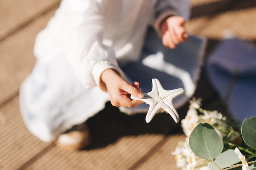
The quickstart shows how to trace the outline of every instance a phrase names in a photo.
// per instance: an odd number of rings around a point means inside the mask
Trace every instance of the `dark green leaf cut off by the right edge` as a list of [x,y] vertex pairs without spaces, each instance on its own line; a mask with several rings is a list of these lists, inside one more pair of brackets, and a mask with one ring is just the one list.
[[241,126],[245,144],[256,149],[256,117],[246,118]]

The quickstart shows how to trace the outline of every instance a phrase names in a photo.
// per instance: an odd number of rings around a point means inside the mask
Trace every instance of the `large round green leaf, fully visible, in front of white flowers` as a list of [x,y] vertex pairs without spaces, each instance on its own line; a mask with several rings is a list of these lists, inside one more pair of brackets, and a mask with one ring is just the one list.
[[202,159],[213,160],[223,150],[223,142],[213,127],[198,124],[189,137],[189,146],[193,153]]

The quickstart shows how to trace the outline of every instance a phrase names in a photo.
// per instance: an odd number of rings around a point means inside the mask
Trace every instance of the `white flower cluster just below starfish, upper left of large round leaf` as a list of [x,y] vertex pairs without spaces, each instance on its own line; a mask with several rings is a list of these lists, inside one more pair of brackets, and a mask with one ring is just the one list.
[[181,121],[182,129],[187,137],[195,129],[195,126],[199,124],[199,117],[197,111],[194,108],[189,108],[186,117]]

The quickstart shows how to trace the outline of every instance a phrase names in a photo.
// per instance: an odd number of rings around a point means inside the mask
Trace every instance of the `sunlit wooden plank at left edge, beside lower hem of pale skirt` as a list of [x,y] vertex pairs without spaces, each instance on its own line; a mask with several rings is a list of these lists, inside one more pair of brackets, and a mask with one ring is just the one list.
[[27,131],[20,115],[18,97],[0,108],[0,129],[2,170],[19,168],[49,145]]

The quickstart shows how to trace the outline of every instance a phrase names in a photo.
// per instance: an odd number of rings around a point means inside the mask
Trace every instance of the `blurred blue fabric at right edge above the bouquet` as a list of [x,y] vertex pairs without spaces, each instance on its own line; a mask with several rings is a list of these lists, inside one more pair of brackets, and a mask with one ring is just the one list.
[[211,84],[229,108],[243,122],[256,116],[256,45],[232,38],[222,41],[207,60]]

